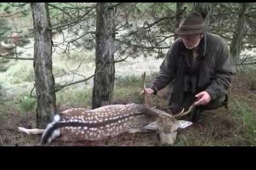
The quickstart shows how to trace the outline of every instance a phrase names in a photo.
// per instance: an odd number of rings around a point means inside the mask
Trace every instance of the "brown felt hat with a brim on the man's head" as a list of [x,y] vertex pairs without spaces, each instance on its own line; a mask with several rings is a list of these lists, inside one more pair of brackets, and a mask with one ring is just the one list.
[[191,12],[174,32],[179,35],[192,35],[205,33],[209,29],[210,27],[205,25],[204,19],[200,13]]

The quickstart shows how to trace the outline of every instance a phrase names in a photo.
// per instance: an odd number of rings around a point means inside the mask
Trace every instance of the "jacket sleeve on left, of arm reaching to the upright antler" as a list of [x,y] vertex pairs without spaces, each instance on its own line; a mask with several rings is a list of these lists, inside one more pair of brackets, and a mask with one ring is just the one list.
[[175,58],[177,56],[177,41],[173,43],[172,47],[168,50],[165,60],[160,66],[160,73],[155,78],[151,88],[154,90],[154,94],[157,91],[163,89],[168,85],[175,77],[176,64]]

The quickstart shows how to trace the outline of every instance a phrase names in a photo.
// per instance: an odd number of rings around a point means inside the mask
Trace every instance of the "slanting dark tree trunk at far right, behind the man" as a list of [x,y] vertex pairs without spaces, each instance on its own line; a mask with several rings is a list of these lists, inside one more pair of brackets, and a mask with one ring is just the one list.
[[232,42],[230,45],[230,53],[233,56],[233,59],[235,62],[238,62],[240,52],[241,52],[241,46],[243,42],[243,31],[244,31],[244,21],[245,21],[245,11],[247,7],[249,6],[248,3],[242,3],[241,4],[241,10],[238,15],[237,24],[235,27],[235,32],[233,34]]

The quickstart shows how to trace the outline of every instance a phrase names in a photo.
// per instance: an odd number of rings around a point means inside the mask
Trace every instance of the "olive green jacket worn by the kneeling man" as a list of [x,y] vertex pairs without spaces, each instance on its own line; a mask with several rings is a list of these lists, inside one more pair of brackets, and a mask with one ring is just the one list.
[[[156,94],[174,80],[169,107],[176,111],[180,110],[184,91],[199,93],[205,90],[212,100],[227,95],[236,73],[227,45],[220,36],[205,33],[197,53],[198,57],[193,59],[192,50],[186,49],[182,39],[178,38],[168,50],[160,73],[151,86]],[[192,76],[193,72],[196,77]],[[188,79],[194,80],[195,85],[188,86]]]

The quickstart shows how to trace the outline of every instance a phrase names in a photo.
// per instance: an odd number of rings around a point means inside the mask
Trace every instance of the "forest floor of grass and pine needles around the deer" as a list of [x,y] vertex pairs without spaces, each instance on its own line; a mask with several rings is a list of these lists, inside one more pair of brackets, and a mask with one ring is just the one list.
[[[149,82],[148,82],[149,83]],[[150,83],[149,83],[150,84]],[[137,83],[116,86],[114,103],[142,102],[140,77]],[[121,89],[122,88],[122,89]],[[129,89],[129,90],[127,90]],[[118,95],[121,91],[124,95]],[[245,73],[239,73],[232,85],[229,110],[207,111],[204,121],[178,131],[174,146],[255,146],[256,84]],[[151,106],[166,109],[166,88],[150,98]],[[41,135],[22,134],[17,127],[35,128],[35,110],[22,114],[11,101],[0,104],[0,146],[38,146]],[[59,105],[63,110],[69,106]],[[160,146],[157,132],[121,134],[100,141],[53,141],[49,146]]]

